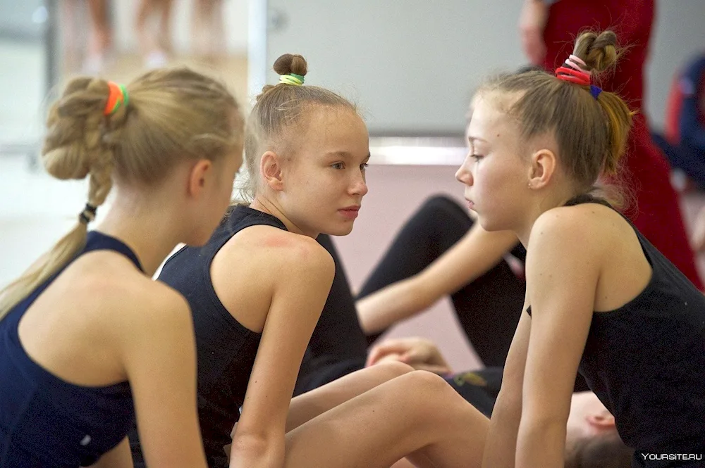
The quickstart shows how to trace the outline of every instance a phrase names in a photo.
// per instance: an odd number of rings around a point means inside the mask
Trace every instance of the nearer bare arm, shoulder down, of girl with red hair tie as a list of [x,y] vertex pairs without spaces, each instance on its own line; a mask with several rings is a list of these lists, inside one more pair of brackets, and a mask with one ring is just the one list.
[[601,239],[568,209],[545,213],[532,229],[527,249],[531,341],[517,468],[563,467],[565,425],[594,310]]

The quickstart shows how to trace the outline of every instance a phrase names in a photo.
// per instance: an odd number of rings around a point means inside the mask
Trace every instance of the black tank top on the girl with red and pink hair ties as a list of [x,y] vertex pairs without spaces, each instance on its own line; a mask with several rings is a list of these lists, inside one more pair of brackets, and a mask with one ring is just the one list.
[[[567,205],[578,203],[611,208],[589,196]],[[651,280],[622,307],[592,315],[579,370],[614,415],[622,440],[637,450],[635,464],[666,466],[638,451],[705,452],[705,296],[630,225]]]

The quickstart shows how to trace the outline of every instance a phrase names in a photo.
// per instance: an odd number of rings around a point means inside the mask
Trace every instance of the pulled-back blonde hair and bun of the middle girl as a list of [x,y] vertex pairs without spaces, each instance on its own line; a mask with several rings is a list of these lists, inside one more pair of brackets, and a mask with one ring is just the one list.
[[[300,75],[305,77],[308,65],[300,55],[285,53],[274,62],[278,75]],[[240,196],[243,201],[252,201],[259,184],[259,159],[262,153],[286,143],[283,134],[286,129],[305,124],[305,110],[312,106],[345,108],[357,113],[357,107],[333,91],[317,86],[268,84],[257,96],[245,130],[246,182],[240,182]]]

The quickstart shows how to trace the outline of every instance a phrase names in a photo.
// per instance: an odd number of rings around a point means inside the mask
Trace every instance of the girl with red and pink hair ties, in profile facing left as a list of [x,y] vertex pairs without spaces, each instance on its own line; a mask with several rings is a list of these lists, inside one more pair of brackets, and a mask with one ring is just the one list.
[[702,463],[668,456],[705,452],[705,297],[595,189],[618,172],[632,123],[594,80],[615,43],[584,32],[556,76],[500,77],[474,97],[456,177],[479,224],[527,249],[484,466],[563,467],[578,371],[635,466]]

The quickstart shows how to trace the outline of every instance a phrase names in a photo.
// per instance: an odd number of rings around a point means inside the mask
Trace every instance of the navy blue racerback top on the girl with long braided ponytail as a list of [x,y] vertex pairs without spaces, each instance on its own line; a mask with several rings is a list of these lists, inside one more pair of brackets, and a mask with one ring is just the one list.
[[71,262],[37,286],[0,320],[0,467],[76,468],[94,464],[134,424],[127,381],[107,386],[71,384],[39,365],[20,342],[25,312],[73,261],[93,251],[115,251],[142,270],[122,241],[89,232]]

